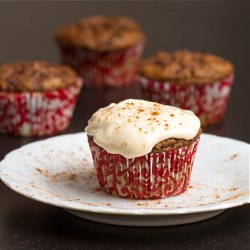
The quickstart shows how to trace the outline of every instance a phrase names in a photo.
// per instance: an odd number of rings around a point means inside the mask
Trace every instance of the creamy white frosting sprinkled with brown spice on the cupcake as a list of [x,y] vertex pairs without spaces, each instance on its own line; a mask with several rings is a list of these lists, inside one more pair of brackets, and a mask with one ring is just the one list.
[[150,153],[168,138],[191,140],[199,129],[200,120],[192,111],[127,99],[97,110],[85,131],[107,152],[129,159]]

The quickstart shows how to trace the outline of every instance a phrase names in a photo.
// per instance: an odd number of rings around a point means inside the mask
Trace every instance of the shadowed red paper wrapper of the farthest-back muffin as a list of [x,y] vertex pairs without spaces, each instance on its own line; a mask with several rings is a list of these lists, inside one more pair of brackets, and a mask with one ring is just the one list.
[[88,87],[120,87],[132,84],[138,71],[144,41],[114,52],[95,52],[58,43],[63,64],[70,65]]

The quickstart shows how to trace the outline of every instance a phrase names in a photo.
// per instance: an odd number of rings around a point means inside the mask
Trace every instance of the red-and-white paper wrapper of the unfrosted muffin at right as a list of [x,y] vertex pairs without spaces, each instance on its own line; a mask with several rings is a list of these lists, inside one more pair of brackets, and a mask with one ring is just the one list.
[[220,121],[225,114],[233,76],[205,85],[180,85],[138,77],[145,99],[192,110],[203,126]]

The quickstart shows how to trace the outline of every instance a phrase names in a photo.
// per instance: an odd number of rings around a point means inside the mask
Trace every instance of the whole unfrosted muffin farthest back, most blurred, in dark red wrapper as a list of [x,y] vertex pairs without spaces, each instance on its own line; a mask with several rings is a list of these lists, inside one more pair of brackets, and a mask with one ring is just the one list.
[[145,36],[125,16],[91,16],[56,32],[62,62],[72,66],[90,87],[132,84],[144,49]]

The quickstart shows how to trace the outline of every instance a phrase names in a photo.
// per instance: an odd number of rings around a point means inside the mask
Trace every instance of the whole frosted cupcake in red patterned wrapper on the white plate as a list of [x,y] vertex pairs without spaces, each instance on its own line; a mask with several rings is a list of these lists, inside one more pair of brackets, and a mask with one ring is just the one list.
[[193,112],[128,99],[99,109],[85,131],[107,193],[157,199],[186,191],[201,134]]

